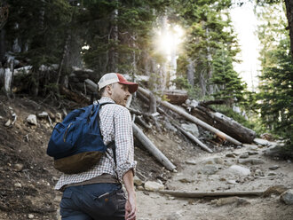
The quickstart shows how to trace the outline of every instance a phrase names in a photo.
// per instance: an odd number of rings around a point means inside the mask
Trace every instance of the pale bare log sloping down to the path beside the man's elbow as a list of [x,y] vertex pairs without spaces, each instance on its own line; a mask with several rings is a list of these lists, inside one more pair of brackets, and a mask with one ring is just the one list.
[[142,132],[142,130],[140,130],[135,123],[132,124],[132,128],[134,136],[138,138],[141,144],[154,155],[155,159],[160,161],[162,165],[170,171],[174,171],[176,169],[173,163],[171,163],[171,161],[169,161],[169,159],[153,144],[153,142],[147,138],[144,132]]

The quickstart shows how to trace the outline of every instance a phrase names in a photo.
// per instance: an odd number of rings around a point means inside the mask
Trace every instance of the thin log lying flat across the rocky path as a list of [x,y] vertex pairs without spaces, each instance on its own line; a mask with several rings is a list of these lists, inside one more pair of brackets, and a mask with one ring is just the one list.
[[186,192],[160,190],[162,194],[169,194],[181,198],[226,197],[226,196],[261,196],[263,191],[235,191],[235,192]]

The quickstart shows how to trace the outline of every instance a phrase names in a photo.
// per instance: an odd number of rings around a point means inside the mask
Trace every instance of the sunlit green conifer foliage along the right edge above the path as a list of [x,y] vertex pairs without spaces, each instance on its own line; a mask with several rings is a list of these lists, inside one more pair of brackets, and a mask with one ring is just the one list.
[[[288,149],[293,152],[293,59],[290,56],[285,17],[280,16],[281,11],[280,5],[273,5],[260,14],[266,26],[259,27],[259,37],[263,45],[262,70],[255,107],[260,111],[265,128],[285,138]],[[280,20],[279,24],[276,20]],[[272,37],[275,42],[271,41]]]

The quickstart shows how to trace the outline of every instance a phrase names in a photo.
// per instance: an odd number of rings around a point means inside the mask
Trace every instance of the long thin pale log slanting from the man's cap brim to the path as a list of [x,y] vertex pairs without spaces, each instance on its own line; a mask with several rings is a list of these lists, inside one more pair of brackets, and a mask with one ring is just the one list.
[[[145,90],[145,89],[139,87],[139,91],[141,93],[143,93],[143,95],[149,97],[148,90]],[[179,109],[177,106],[173,106],[172,104],[170,104],[169,102],[166,102],[166,101],[159,101],[159,103],[162,106],[165,106],[165,107],[169,108],[170,110],[176,112],[177,114],[180,114],[180,115],[186,117],[186,119],[188,119],[189,121],[194,122],[194,123],[202,126],[202,128],[204,128],[206,130],[210,130],[211,132],[215,133],[219,138],[227,140],[227,141],[233,143],[234,145],[242,145],[242,143],[239,142],[238,140],[235,140],[234,138],[226,135],[224,132],[213,128],[212,126],[210,126],[210,124],[208,124],[206,122],[202,122],[202,120],[199,120],[198,118],[194,117],[193,115],[187,114],[185,111]]]

